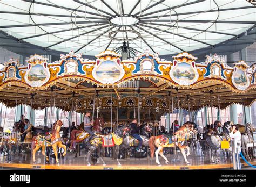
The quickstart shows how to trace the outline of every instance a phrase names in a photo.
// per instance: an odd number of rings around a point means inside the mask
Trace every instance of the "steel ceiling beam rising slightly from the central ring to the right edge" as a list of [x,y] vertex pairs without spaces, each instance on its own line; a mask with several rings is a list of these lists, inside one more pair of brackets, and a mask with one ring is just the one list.
[[[244,6],[244,7],[237,7],[237,8],[219,9],[219,10],[216,9],[216,10],[206,10],[206,11],[183,12],[183,13],[176,13],[171,15],[161,15],[161,17],[182,16],[182,15],[191,15],[191,14],[199,14],[199,13],[207,13],[207,12],[220,12],[220,11],[251,9],[251,8],[255,9],[255,6]],[[158,18],[158,17],[159,16],[150,16],[150,17],[145,17],[141,19],[150,19],[150,18]]]

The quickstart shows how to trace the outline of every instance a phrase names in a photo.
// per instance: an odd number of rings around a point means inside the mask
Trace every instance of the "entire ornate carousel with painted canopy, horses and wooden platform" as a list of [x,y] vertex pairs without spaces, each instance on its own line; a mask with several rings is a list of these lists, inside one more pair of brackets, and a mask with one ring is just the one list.
[[[197,62],[197,57],[187,52],[167,61],[149,49],[127,60],[121,60],[122,55],[113,51],[104,51],[95,57],[96,60],[84,59],[82,54],[71,51],[61,54],[54,62],[35,54],[30,56],[28,66],[12,58],[4,63],[0,70],[2,106],[48,108],[50,116],[45,117],[48,122],[43,127],[24,119],[28,128],[23,140],[24,133],[18,122],[8,133],[4,121],[0,166],[233,168],[234,156],[229,150],[232,143],[228,136],[232,123],[221,123],[220,115],[214,120],[213,109],[220,111],[232,104],[250,106],[254,102],[255,66],[239,61],[230,67],[217,54]],[[53,108],[61,112],[53,115]],[[202,121],[200,127],[198,117],[202,109],[207,109],[208,119],[207,124]],[[186,111],[185,118],[182,111]],[[65,112],[70,112],[70,117]],[[84,123],[71,129],[75,120],[73,112],[82,119],[90,112],[93,135],[84,130]],[[165,116],[164,125],[160,126],[162,116]],[[63,127],[61,118],[68,121],[68,128]],[[134,119],[142,137],[140,152],[137,152],[139,141],[131,134]],[[177,130],[173,129],[174,121],[180,125]],[[212,125],[208,133],[213,132],[217,144],[208,142],[203,135],[206,125]],[[255,164],[252,135],[255,129],[250,123],[239,124],[239,127],[244,139],[242,144],[246,143],[242,150],[248,160],[241,160],[241,164]]]

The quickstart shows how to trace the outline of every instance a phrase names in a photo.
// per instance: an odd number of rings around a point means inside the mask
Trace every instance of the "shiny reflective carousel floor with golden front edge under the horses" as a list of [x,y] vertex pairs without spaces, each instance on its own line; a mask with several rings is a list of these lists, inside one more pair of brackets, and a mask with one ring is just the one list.
[[[120,166],[117,164],[116,159],[112,159],[107,153],[111,153],[112,149],[103,150],[102,157],[103,162],[97,157],[92,156],[91,166],[87,166],[86,152],[82,149],[79,157],[75,157],[74,152],[68,152],[65,157],[59,159],[60,164],[57,165],[55,161],[55,156],[50,156],[50,163],[45,163],[45,157],[41,152],[36,153],[36,162],[33,164],[32,156],[30,153],[12,153],[11,162],[7,160],[7,156],[0,155],[0,167],[2,168],[28,168],[28,169],[233,169],[232,157],[227,157],[223,150],[218,151],[219,163],[211,163],[210,152],[201,149],[191,149],[191,155],[188,156],[188,161],[190,165],[187,165],[184,161],[183,156],[180,151],[177,150],[176,154],[173,153],[173,149],[165,148],[165,156],[169,160],[168,164],[162,157],[159,156],[159,161],[161,166],[156,163],[156,157],[151,158],[146,156],[146,152],[136,153],[134,151],[131,156],[125,154],[125,159],[119,159]],[[60,154],[59,154],[60,155]],[[247,164],[241,159],[242,169],[253,169],[247,167]],[[256,164],[256,159],[250,160],[251,164]]]

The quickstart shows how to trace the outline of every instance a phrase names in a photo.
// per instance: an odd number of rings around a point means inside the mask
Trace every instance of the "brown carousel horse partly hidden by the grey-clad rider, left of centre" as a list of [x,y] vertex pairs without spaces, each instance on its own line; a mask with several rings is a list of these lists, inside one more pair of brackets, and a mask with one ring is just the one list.
[[[97,118],[92,126],[92,130],[96,134],[101,134],[102,127],[104,126],[104,120],[103,118]],[[70,145],[70,151],[73,151],[76,148],[76,143],[81,143],[85,140],[85,138],[89,137],[90,134],[84,131],[84,123],[82,122],[77,130],[73,130],[71,132],[71,145]],[[79,154],[80,155],[80,154]],[[77,156],[77,154],[76,154]]]

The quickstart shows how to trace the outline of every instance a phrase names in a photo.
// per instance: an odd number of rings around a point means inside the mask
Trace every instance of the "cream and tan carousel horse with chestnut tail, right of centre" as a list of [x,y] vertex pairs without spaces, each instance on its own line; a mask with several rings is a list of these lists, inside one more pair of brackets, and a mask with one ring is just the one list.
[[[159,136],[151,136],[149,139],[150,153],[151,157],[154,156],[154,150],[156,150],[156,162],[158,166],[160,165],[158,154],[165,160],[165,163],[168,164],[168,159],[164,156],[163,150],[165,147],[176,147],[178,146],[181,150],[181,153],[184,157],[186,164],[190,164],[187,161],[187,156],[190,155],[190,147],[186,145],[186,140],[188,140],[191,136],[191,133],[195,132],[194,125],[190,122],[186,122],[183,126],[181,126],[172,136],[172,139],[167,135],[161,134]],[[174,142],[173,142],[174,141]],[[185,149],[187,149],[187,154],[185,153]]]

